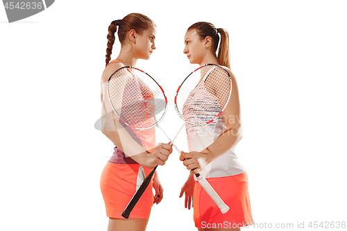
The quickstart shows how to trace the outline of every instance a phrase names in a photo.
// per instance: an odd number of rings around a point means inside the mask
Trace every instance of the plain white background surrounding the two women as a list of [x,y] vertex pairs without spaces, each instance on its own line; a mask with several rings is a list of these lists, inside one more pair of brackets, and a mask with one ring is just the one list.
[[[187,28],[230,34],[255,223],[346,219],[346,1],[56,1],[8,24],[0,7],[0,230],[106,230],[99,189],[113,145],[94,129],[108,26],[130,12],[158,26],[157,50],[137,67],[169,97],[161,125],[181,120],[174,92],[196,65]],[[113,47],[117,58],[119,42]],[[167,139],[158,130],[158,142]],[[176,142],[187,151],[185,132]],[[196,230],[178,198],[188,172],[174,151],[158,168],[164,199],[147,230]],[[285,229],[283,229],[285,230]],[[341,230],[337,229],[337,230]]]

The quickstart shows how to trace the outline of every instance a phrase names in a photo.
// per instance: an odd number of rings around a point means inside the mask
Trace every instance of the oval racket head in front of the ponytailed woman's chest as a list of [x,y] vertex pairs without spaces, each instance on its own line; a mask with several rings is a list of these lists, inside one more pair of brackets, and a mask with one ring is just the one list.
[[217,119],[230,99],[229,72],[219,65],[206,64],[192,71],[178,87],[176,112],[192,125],[203,126]]

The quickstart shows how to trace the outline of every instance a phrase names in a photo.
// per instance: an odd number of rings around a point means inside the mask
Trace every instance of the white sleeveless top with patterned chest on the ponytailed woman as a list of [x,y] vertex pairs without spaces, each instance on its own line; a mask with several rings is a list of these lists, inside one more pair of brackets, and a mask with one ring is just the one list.
[[[205,91],[204,99],[199,99],[199,101],[209,101],[213,103],[213,106],[210,110],[218,110],[220,112],[219,103],[217,100],[217,96],[210,94],[207,89],[205,89],[204,81],[198,84],[198,86],[193,90],[189,101],[185,102],[183,105],[183,113],[194,112],[194,108],[198,105],[198,101],[194,99],[194,91]],[[189,105],[195,105],[194,108],[187,108]],[[185,108],[186,107],[186,108]],[[198,108],[196,109],[198,110]],[[185,118],[188,114],[183,114]],[[210,119],[213,119],[211,117]],[[186,123],[185,125],[187,132],[187,140],[188,140],[188,148],[190,151],[203,151],[203,149],[210,146],[216,139],[221,135],[223,130],[226,128],[226,123],[223,119],[223,114],[221,114],[217,119],[208,123],[205,126],[194,126],[190,123]],[[235,154],[235,148],[230,149],[224,155],[221,155],[216,160],[212,161],[208,164],[203,171],[201,171],[201,176],[205,178],[219,178],[225,176],[235,176],[241,173],[244,173],[246,169],[239,162],[237,155]],[[195,178],[195,176],[194,176]]]

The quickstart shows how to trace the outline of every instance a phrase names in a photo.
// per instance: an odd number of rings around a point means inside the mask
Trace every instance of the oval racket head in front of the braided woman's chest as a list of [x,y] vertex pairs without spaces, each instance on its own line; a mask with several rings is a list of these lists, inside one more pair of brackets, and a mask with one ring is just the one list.
[[115,71],[108,79],[107,89],[112,109],[130,128],[153,128],[167,112],[167,96],[162,87],[136,67]]

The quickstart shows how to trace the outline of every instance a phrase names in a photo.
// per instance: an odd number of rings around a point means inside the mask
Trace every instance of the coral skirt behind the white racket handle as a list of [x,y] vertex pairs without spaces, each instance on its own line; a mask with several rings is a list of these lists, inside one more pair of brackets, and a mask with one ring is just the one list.
[[253,224],[246,172],[206,180],[230,209],[222,214],[219,207],[196,181],[193,196],[196,228],[240,228]]

